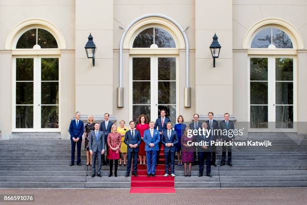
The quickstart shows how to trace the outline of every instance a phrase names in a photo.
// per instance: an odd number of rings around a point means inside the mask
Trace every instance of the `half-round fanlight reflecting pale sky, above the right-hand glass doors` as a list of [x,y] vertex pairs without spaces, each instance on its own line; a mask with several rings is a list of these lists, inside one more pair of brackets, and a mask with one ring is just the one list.
[[290,37],[282,30],[268,27],[260,30],[251,42],[251,48],[293,48]]

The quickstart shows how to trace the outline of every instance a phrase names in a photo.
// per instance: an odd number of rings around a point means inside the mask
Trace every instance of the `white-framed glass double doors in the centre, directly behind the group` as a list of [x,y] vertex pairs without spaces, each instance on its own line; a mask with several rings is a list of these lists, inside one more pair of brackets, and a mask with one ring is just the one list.
[[130,56],[130,114],[138,120],[144,114],[148,121],[155,121],[161,110],[176,122],[178,83],[176,56]]

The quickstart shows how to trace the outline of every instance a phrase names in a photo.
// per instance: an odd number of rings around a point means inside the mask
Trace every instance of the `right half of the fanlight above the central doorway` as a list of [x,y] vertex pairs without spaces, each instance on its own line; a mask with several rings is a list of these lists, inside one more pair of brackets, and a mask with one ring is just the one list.
[[173,37],[164,29],[155,28],[155,44],[159,48],[176,48]]

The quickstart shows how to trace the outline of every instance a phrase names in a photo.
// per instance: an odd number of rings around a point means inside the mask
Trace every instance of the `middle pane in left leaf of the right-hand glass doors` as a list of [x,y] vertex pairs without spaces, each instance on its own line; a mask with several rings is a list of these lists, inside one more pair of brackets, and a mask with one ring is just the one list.
[[250,82],[250,104],[267,105],[267,82]]

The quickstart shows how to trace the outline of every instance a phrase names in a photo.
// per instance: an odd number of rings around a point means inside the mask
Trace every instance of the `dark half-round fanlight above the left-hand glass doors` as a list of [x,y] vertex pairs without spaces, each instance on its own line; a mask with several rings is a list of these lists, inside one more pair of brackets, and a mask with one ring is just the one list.
[[21,35],[16,44],[17,49],[58,48],[55,37],[47,30],[34,28]]

